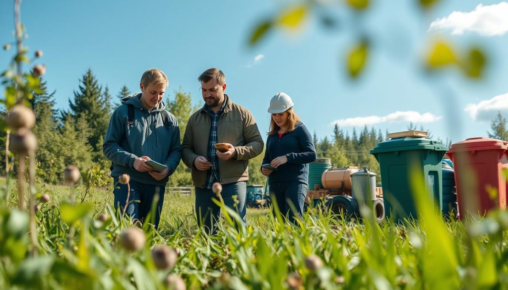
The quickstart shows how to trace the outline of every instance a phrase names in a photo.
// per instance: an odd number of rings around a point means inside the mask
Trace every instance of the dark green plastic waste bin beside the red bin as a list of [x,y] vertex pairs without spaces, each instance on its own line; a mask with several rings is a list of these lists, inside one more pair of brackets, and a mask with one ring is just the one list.
[[402,137],[380,142],[370,151],[381,173],[383,203],[387,217],[395,220],[418,218],[414,194],[410,184],[410,167],[422,169],[429,198],[442,208],[441,160],[448,147],[441,141],[426,138]]

